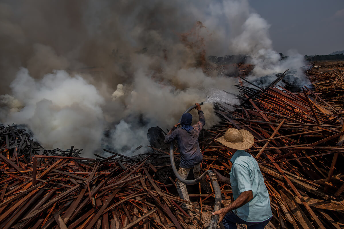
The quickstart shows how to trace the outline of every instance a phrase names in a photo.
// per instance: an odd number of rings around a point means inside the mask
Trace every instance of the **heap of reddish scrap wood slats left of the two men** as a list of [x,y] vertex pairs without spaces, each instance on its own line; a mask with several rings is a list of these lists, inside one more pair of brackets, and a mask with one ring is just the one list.
[[0,228],[202,227],[149,174],[154,154],[100,160],[68,157],[71,147],[54,156],[15,126],[1,127],[0,143]]

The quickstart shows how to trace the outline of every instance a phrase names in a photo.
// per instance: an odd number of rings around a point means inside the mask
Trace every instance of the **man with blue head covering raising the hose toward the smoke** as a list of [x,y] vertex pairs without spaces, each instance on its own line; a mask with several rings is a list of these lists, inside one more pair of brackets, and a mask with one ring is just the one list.
[[[200,176],[201,162],[203,159],[200,146],[198,145],[198,135],[205,125],[205,119],[203,111],[201,109],[201,105],[198,103],[195,103],[195,105],[195,109],[198,110],[200,121],[191,126],[192,115],[190,113],[183,114],[180,121],[182,124],[182,128],[177,129],[180,123],[174,125],[169,133],[167,133],[164,140],[165,144],[172,142],[174,139],[177,140],[178,148],[181,155],[178,173],[183,179],[187,178],[192,168],[194,168],[193,173],[195,179],[198,178]],[[180,198],[186,201],[190,201],[189,193],[187,193],[186,190],[186,185],[180,180],[177,180],[176,185]],[[189,214],[194,215],[190,211],[192,207],[190,204],[183,203],[182,207],[183,209],[188,211]]]

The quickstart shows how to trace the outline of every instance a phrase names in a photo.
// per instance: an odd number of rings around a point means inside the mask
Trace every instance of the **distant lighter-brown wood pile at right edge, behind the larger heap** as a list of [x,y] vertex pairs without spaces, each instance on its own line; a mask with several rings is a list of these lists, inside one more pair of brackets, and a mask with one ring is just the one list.
[[341,63],[315,66],[308,71],[314,92],[326,98],[330,104],[342,104],[344,100],[344,66]]

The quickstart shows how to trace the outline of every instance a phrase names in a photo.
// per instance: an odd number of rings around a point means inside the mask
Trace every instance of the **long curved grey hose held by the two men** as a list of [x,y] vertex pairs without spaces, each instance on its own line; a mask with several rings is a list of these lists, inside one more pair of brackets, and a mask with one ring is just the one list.
[[[200,105],[203,105],[203,102],[200,103]],[[184,112],[184,114],[189,113],[195,107],[196,107],[196,105],[190,106],[189,108],[187,108],[187,110]],[[179,119],[179,123],[180,123],[180,121],[181,121],[181,119]],[[203,176],[208,175],[209,178],[211,179],[213,189],[214,189],[214,195],[215,195],[214,211],[219,210],[221,208],[221,190],[220,190],[220,186],[218,185],[216,176],[213,173],[213,171],[207,170],[202,175],[200,175],[200,177],[198,177],[195,180],[185,180],[185,179],[181,178],[181,176],[178,173],[178,170],[175,167],[173,151],[174,151],[174,146],[173,146],[173,142],[171,142],[171,147],[170,147],[171,166],[172,166],[172,170],[173,170],[175,176],[178,178],[178,180],[180,180],[184,184],[193,185],[193,184],[199,183],[203,179]],[[210,221],[208,229],[215,229],[217,227],[218,219],[219,219],[218,215],[212,216],[212,219]]]

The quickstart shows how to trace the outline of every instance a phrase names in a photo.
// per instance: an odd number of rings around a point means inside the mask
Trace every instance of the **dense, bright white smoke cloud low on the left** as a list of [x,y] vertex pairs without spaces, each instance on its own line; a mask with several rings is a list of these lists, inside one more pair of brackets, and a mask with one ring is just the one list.
[[[90,152],[97,149],[104,130],[101,105],[104,98],[81,76],[71,77],[63,70],[35,80],[22,68],[11,83],[15,99],[7,101],[11,109],[6,121],[26,124],[44,146],[68,149],[72,145]],[[1,95],[0,100],[8,98]],[[18,109],[18,102],[22,109]],[[14,102],[14,103],[13,103]]]

